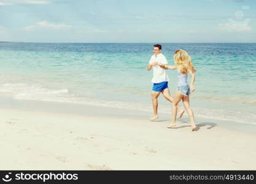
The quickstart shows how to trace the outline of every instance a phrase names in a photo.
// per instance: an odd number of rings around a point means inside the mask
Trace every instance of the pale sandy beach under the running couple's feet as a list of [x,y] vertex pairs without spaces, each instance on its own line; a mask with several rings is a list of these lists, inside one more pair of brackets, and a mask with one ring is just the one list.
[[191,132],[186,117],[168,129],[169,115],[149,121],[150,113],[96,106],[79,115],[25,102],[0,109],[1,170],[256,169],[256,135],[210,120],[196,118]]

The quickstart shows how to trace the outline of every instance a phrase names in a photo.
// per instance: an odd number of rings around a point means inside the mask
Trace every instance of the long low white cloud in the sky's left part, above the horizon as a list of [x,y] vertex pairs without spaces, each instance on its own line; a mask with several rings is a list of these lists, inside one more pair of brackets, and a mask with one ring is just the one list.
[[55,23],[49,23],[48,21],[39,21],[35,25],[30,25],[24,27],[24,29],[28,31],[32,31],[37,28],[48,28],[48,29],[70,29],[72,28],[72,25],[64,25],[64,24],[55,24]]

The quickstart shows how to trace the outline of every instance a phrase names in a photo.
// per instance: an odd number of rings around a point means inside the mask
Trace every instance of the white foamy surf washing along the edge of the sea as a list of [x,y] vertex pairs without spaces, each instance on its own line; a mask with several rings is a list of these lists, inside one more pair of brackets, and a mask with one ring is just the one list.
[[[0,85],[0,92],[12,93],[15,99],[68,102],[152,112],[151,104],[142,104],[140,102],[106,101],[96,98],[79,97],[76,96],[76,94],[69,93],[68,89],[53,90],[44,88],[39,84],[29,85],[26,83],[5,83],[3,85]],[[196,117],[256,125],[256,114],[254,113],[196,107],[193,108],[193,110]],[[161,105],[160,112],[170,113],[171,107],[168,105]]]

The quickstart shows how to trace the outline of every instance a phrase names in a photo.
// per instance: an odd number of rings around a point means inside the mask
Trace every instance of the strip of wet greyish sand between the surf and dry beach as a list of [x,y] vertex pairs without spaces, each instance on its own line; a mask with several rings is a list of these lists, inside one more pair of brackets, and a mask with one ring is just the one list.
[[[51,102],[51,101],[37,101],[27,99],[14,99],[10,96],[10,93],[0,93],[0,109],[15,109],[26,110],[28,112],[47,112],[47,113],[60,113],[89,117],[105,117],[105,118],[136,118],[138,120],[146,120],[152,116],[152,112],[144,110],[125,109],[117,107],[104,107],[98,105],[76,104],[68,102]],[[171,107],[170,107],[171,110]],[[161,112],[161,107],[158,109],[158,120],[171,122],[171,112]],[[177,119],[177,123],[189,122],[187,112],[180,119]],[[222,128],[230,129],[232,131],[244,132],[256,135],[256,126],[247,123],[238,123],[233,121],[216,120],[212,118],[196,117],[195,122],[208,122]]]

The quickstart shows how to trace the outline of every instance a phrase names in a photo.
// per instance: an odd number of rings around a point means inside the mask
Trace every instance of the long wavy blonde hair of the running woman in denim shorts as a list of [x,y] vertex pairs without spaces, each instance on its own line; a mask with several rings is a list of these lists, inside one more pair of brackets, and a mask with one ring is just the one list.
[[178,49],[174,52],[174,63],[182,74],[187,74],[188,70],[191,70],[193,73],[196,72],[192,60],[185,50]]

